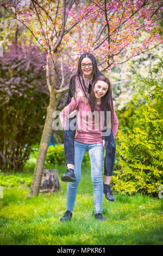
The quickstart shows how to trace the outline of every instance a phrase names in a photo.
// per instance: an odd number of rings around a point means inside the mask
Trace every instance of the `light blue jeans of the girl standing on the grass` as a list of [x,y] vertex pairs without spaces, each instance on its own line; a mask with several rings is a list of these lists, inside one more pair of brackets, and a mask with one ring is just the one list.
[[91,181],[93,184],[93,198],[95,214],[102,212],[103,203],[103,156],[104,148],[102,143],[85,144],[74,141],[74,174],[76,181],[68,182],[67,185],[67,210],[73,211],[77,196],[77,188],[81,178],[81,167],[85,151],[89,151],[91,161]]

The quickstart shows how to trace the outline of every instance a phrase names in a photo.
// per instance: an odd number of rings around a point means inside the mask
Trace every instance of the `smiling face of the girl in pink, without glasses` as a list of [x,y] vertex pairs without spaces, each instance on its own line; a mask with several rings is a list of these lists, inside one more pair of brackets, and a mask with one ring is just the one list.
[[104,81],[97,81],[94,86],[94,93],[96,97],[96,102],[101,103],[101,98],[108,91],[109,85]]

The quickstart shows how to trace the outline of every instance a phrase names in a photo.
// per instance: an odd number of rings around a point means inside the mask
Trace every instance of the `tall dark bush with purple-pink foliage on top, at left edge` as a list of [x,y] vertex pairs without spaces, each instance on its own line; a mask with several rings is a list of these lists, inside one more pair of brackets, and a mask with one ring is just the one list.
[[40,141],[49,103],[46,52],[21,38],[0,58],[0,167],[22,171],[33,145]]

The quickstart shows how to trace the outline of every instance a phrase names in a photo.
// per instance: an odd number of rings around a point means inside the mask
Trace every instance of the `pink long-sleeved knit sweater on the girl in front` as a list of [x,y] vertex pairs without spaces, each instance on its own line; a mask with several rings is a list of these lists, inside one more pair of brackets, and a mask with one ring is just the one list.
[[[95,121],[92,119],[91,107],[90,104],[85,104],[81,97],[77,97],[76,101],[73,100],[70,104],[68,104],[62,111],[60,112],[60,121],[62,127],[65,130],[66,126],[66,118],[68,115],[74,110],[78,111],[77,115],[77,135],[74,138],[75,141],[86,143],[86,144],[94,144],[102,142],[102,129],[100,127],[100,118]],[[98,113],[101,111],[101,105],[97,105]],[[114,111],[114,125],[112,126],[112,133],[114,138],[116,137],[118,130],[118,119],[116,113]]]

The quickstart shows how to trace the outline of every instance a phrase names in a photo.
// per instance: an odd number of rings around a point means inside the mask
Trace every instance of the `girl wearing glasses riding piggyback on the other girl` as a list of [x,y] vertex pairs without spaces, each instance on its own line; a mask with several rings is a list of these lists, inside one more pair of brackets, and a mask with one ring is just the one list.
[[[76,100],[76,98],[80,96],[85,105],[87,105],[89,95],[91,93],[92,84],[93,82],[95,82],[96,78],[101,75],[102,73],[97,68],[96,58],[93,56],[93,54],[82,54],[82,56],[80,56],[79,58],[78,70],[70,80],[67,104],[69,104],[73,100]],[[113,115],[113,113],[115,112],[112,104],[112,97],[107,104],[110,105],[110,111]],[[71,115],[69,116],[70,119],[67,121],[64,131],[64,149],[67,171],[61,176],[61,180],[67,182],[76,181],[76,176],[74,174],[74,137],[75,135],[77,136],[76,129],[74,129],[74,125],[76,125],[75,116],[75,112],[71,113]],[[113,121],[113,127],[114,123],[115,122]],[[103,137],[103,145],[105,147],[103,192],[105,194],[105,198],[110,201],[114,201],[114,196],[110,187],[110,180],[115,162],[115,136],[116,132],[111,129],[110,135]]]

